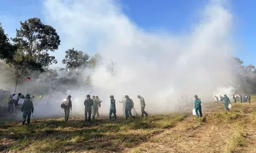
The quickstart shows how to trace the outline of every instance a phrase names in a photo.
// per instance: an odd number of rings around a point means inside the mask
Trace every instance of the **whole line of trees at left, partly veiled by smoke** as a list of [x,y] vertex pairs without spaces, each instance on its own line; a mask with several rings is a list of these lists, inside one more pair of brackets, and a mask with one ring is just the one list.
[[[39,18],[30,18],[20,22],[20,29],[16,29],[16,32],[15,38],[9,38],[0,23],[0,69],[6,77],[5,82],[1,83],[8,84],[9,89],[14,89],[14,92],[19,84],[26,83],[28,76],[32,78],[31,81],[51,85],[41,85],[38,90],[44,92],[42,94],[59,90],[60,86],[63,86],[63,91],[71,87],[90,86],[90,75],[85,75],[84,71],[105,64],[106,59],[99,53],[90,57],[81,50],[72,48],[66,50],[66,56],[62,60],[65,68],[49,69],[51,64],[58,62],[50,55],[61,44],[57,31],[51,25],[42,23]],[[107,64],[109,72],[113,73],[114,62],[109,61]],[[65,75],[60,77],[62,73]]]

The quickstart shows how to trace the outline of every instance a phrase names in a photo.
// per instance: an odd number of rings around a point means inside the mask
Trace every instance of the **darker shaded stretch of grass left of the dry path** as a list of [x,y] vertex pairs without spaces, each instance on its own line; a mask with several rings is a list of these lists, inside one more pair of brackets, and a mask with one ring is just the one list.
[[183,115],[159,115],[135,120],[38,120],[22,126],[2,123],[1,139],[11,139],[14,143],[1,145],[4,151],[67,152],[98,150],[98,152],[121,151],[131,148],[176,122]]

